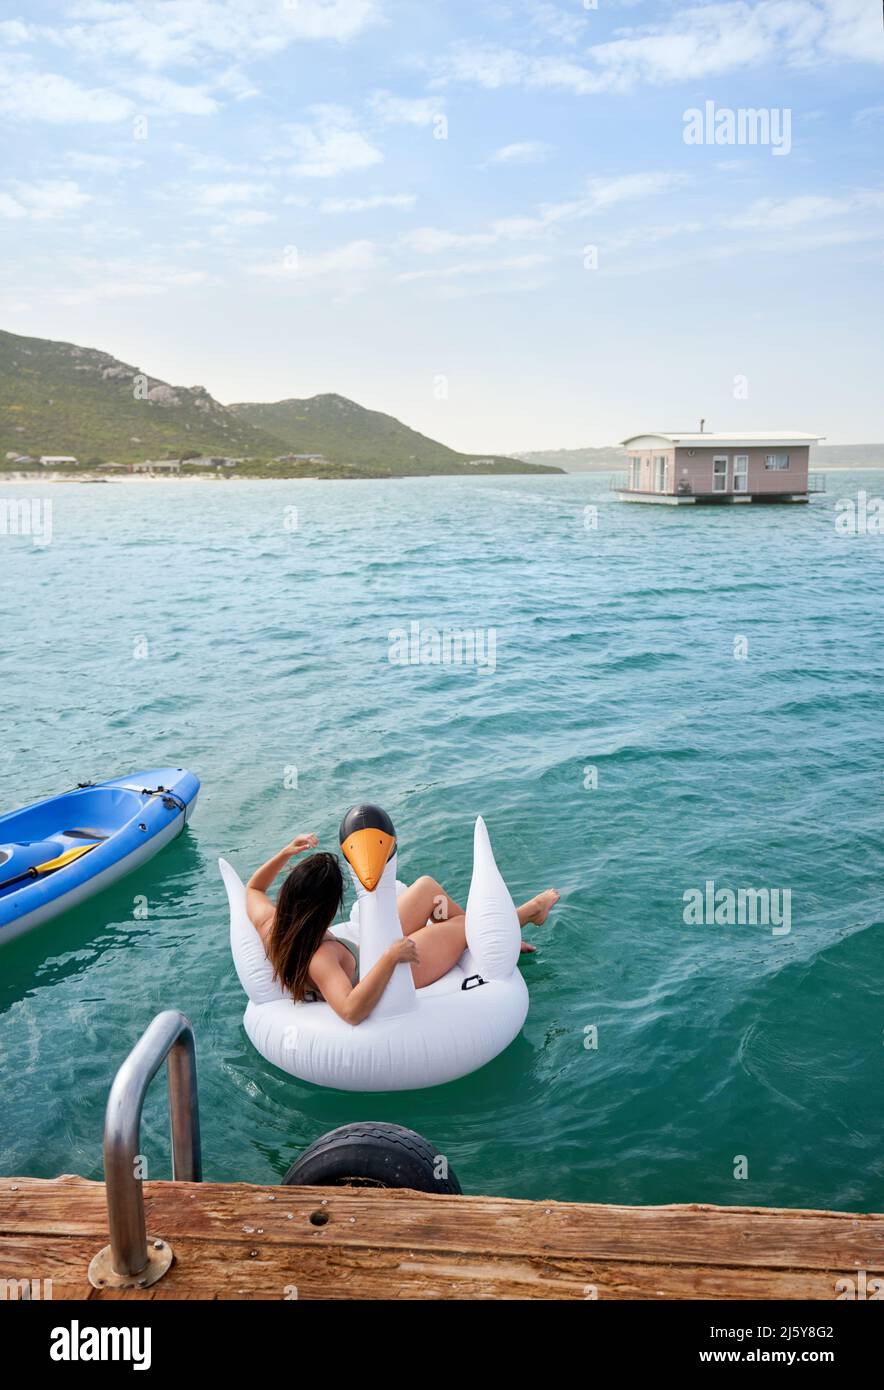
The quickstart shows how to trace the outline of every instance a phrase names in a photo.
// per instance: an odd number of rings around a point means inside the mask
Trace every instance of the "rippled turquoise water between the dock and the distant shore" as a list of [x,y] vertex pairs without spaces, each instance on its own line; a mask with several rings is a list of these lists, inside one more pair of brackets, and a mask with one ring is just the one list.
[[[53,541],[0,537],[3,809],[168,763],[203,794],[152,865],[0,952],[0,1170],[100,1176],[114,1069],[175,1006],[210,1179],[274,1182],[375,1118],[473,1193],[884,1208],[884,537],[834,528],[884,474],[828,486],[702,510],[598,475],[7,489],[51,498]],[[495,670],[392,664],[413,620],[495,628]],[[336,848],[359,799],[403,877],[463,899],[481,812],[514,897],[563,894],[521,1037],[450,1086],[322,1091],[242,1030],[217,856]],[[707,878],[791,890],[791,931],[685,926]],[[157,1177],[164,1108],[157,1080]]]

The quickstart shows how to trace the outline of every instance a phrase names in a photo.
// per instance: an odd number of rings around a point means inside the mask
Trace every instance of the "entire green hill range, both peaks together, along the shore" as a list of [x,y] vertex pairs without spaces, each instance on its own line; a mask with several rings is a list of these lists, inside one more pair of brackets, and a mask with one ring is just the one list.
[[[292,453],[321,460],[284,459]],[[474,460],[343,396],[222,406],[204,386],[171,386],[96,348],[0,332],[0,468],[17,467],[7,455],[121,466],[222,455],[259,477],[549,471]]]

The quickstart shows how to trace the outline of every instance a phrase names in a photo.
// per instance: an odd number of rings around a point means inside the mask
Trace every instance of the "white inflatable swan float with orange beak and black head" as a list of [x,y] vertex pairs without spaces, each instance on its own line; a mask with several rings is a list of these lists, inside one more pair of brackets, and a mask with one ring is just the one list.
[[[346,924],[331,931],[359,945],[360,979],[402,937],[396,897],[396,835],[378,806],[356,806],[341,826],[341,848],[357,899]],[[246,888],[220,860],[231,908],[231,951],[249,995],[243,1023],[274,1066],[342,1091],[410,1091],[467,1076],[509,1047],[528,1012],[518,972],[521,931],[500,877],[485,821],[475,821],[467,898],[467,949],[434,984],[416,990],[411,967],[393,970],[371,1015],[353,1026],[329,1004],[292,1001],[246,912]]]

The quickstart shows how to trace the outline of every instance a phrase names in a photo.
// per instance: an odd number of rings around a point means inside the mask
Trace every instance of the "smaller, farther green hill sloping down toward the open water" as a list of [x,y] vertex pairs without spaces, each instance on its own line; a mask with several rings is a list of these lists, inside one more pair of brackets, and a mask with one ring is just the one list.
[[[243,402],[229,407],[239,420],[282,439],[286,452],[321,453],[375,474],[548,473],[546,467],[500,455],[457,453],[393,416],[366,410],[346,396],[307,400]],[[562,473],[553,468],[553,473]]]

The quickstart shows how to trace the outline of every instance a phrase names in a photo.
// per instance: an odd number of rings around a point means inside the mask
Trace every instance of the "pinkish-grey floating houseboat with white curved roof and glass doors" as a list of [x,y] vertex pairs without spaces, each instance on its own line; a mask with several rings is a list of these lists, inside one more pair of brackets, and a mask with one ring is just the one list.
[[621,441],[628,473],[612,482],[621,502],[808,502],[826,491],[809,473],[821,435],[795,431],[716,434],[703,430],[630,435]]

